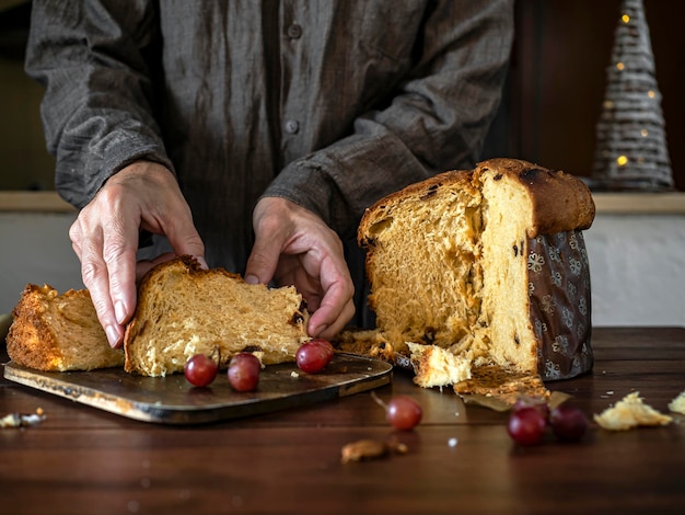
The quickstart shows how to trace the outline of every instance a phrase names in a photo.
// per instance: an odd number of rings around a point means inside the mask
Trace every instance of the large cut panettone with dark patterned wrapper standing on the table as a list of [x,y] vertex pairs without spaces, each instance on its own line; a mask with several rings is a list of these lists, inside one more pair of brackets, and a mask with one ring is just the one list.
[[[378,324],[364,353],[409,357],[419,385],[448,381],[466,391],[478,367],[544,379],[589,370],[581,230],[593,218],[580,180],[512,159],[442,173],[379,201],[358,234]],[[448,350],[457,377],[433,377],[427,359],[440,353],[413,353],[407,342]]]

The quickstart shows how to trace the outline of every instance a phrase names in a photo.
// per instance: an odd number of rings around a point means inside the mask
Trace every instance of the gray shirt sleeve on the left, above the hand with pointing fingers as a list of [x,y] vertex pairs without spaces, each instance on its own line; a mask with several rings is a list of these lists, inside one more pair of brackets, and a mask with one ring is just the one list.
[[155,52],[153,19],[147,1],[33,2],[26,72],[46,88],[40,115],[56,188],[77,207],[137,159],[173,171],[146,59]]

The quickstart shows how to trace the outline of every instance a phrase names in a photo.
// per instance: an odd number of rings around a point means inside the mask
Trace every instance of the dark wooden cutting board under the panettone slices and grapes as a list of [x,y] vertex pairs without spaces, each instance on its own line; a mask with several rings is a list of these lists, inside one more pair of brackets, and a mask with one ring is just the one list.
[[269,365],[253,392],[234,391],[220,371],[205,388],[193,387],[183,374],[142,377],[106,368],[48,373],[15,363],[4,365],[11,381],[71,399],[121,416],[163,424],[200,424],[256,415],[346,397],[386,385],[392,365],[336,354],[318,374],[304,374],[294,363]]

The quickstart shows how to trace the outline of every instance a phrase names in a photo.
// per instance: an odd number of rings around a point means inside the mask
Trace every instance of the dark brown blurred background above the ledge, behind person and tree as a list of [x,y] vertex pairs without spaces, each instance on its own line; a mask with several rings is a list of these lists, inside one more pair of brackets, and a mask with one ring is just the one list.
[[[516,37],[500,115],[484,157],[509,156],[587,176],[619,0],[519,0]],[[685,188],[685,1],[643,0],[663,95],[674,181]],[[0,0],[0,191],[53,190],[38,105],[23,71],[31,2]]]

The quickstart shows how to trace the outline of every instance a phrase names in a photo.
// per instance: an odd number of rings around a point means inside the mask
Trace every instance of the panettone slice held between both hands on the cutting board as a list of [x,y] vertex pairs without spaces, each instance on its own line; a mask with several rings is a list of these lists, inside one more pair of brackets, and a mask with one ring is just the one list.
[[223,268],[201,270],[191,258],[178,258],[152,268],[138,288],[124,336],[125,369],[164,376],[216,347],[221,366],[241,351],[260,352],[265,365],[291,362],[309,340],[307,319],[294,287],[247,284]]

